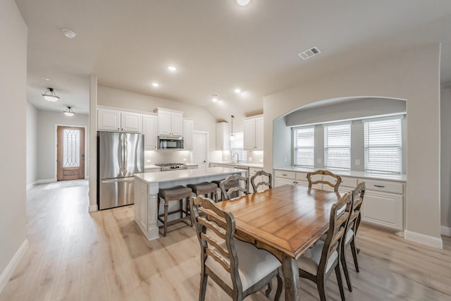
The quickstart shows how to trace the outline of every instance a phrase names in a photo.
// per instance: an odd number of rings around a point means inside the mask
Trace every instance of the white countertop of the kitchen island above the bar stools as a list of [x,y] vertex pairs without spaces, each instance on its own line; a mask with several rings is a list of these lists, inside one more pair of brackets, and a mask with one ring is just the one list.
[[242,172],[242,170],[235,168],[210,167],[199,169],[182,169],[178,171],[156,171],[154,173],[135,173],[135,177],[140,178],[147,183],[160,183],[189,178],[202,178],[205,176],[228,176],[232,173],[239,172]]

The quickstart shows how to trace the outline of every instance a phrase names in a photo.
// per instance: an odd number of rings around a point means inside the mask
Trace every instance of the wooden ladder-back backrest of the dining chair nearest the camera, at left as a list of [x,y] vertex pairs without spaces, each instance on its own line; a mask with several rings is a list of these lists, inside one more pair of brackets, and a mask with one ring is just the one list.
[[[199,216],[198,207],[201,207],[201,210],[209,217]],[[206,269],[207,257],[211,257],[230,274],[233,290],[242,291],[242,282],[240,274],[238,274],[237,252],[233,240],[235,218],[230,212],[221,210],[208,197],[190,198],[190,209],[194,214],[197,238],[201,246],[202,273]],[[209,215],[209,212],[214,215]]]

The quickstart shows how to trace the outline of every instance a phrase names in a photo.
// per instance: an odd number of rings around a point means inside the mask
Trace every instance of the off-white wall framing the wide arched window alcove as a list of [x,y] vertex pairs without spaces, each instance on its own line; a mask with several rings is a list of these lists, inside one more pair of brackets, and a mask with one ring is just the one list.
[[304,104],[337,97],[407,99],[407,233],[410,239],[440,247],[440,44],[409,49],[264,97],[265,169],[279,160],[273,158],[273,121]]

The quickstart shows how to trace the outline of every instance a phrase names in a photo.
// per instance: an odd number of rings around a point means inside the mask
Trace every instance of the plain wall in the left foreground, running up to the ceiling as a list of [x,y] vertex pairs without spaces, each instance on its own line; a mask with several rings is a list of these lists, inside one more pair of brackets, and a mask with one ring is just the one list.
[[[27,26],[13,0],[0,1],[0,290],[26,230]],[[12,266],[9,266],[12,269]],[[8,269],[9,269],[8,268]],[[10,270],[11,271],[11,270]]]

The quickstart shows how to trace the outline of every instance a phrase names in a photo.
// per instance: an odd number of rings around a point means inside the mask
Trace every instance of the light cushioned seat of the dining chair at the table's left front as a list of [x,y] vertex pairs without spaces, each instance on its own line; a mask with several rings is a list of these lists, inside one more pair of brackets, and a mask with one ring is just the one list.
[[[242,290],[247,290],[255,283],[259,282],[266,275],[278,269],[281,264],[273,254],[260,250],[254,245],[240,240],[235,241],[235,250],[238,257],[238,273],[240,274]],[[207,257],[205,265],[221,278],[229,288],[233,289],[230,273],[215,259]]]

